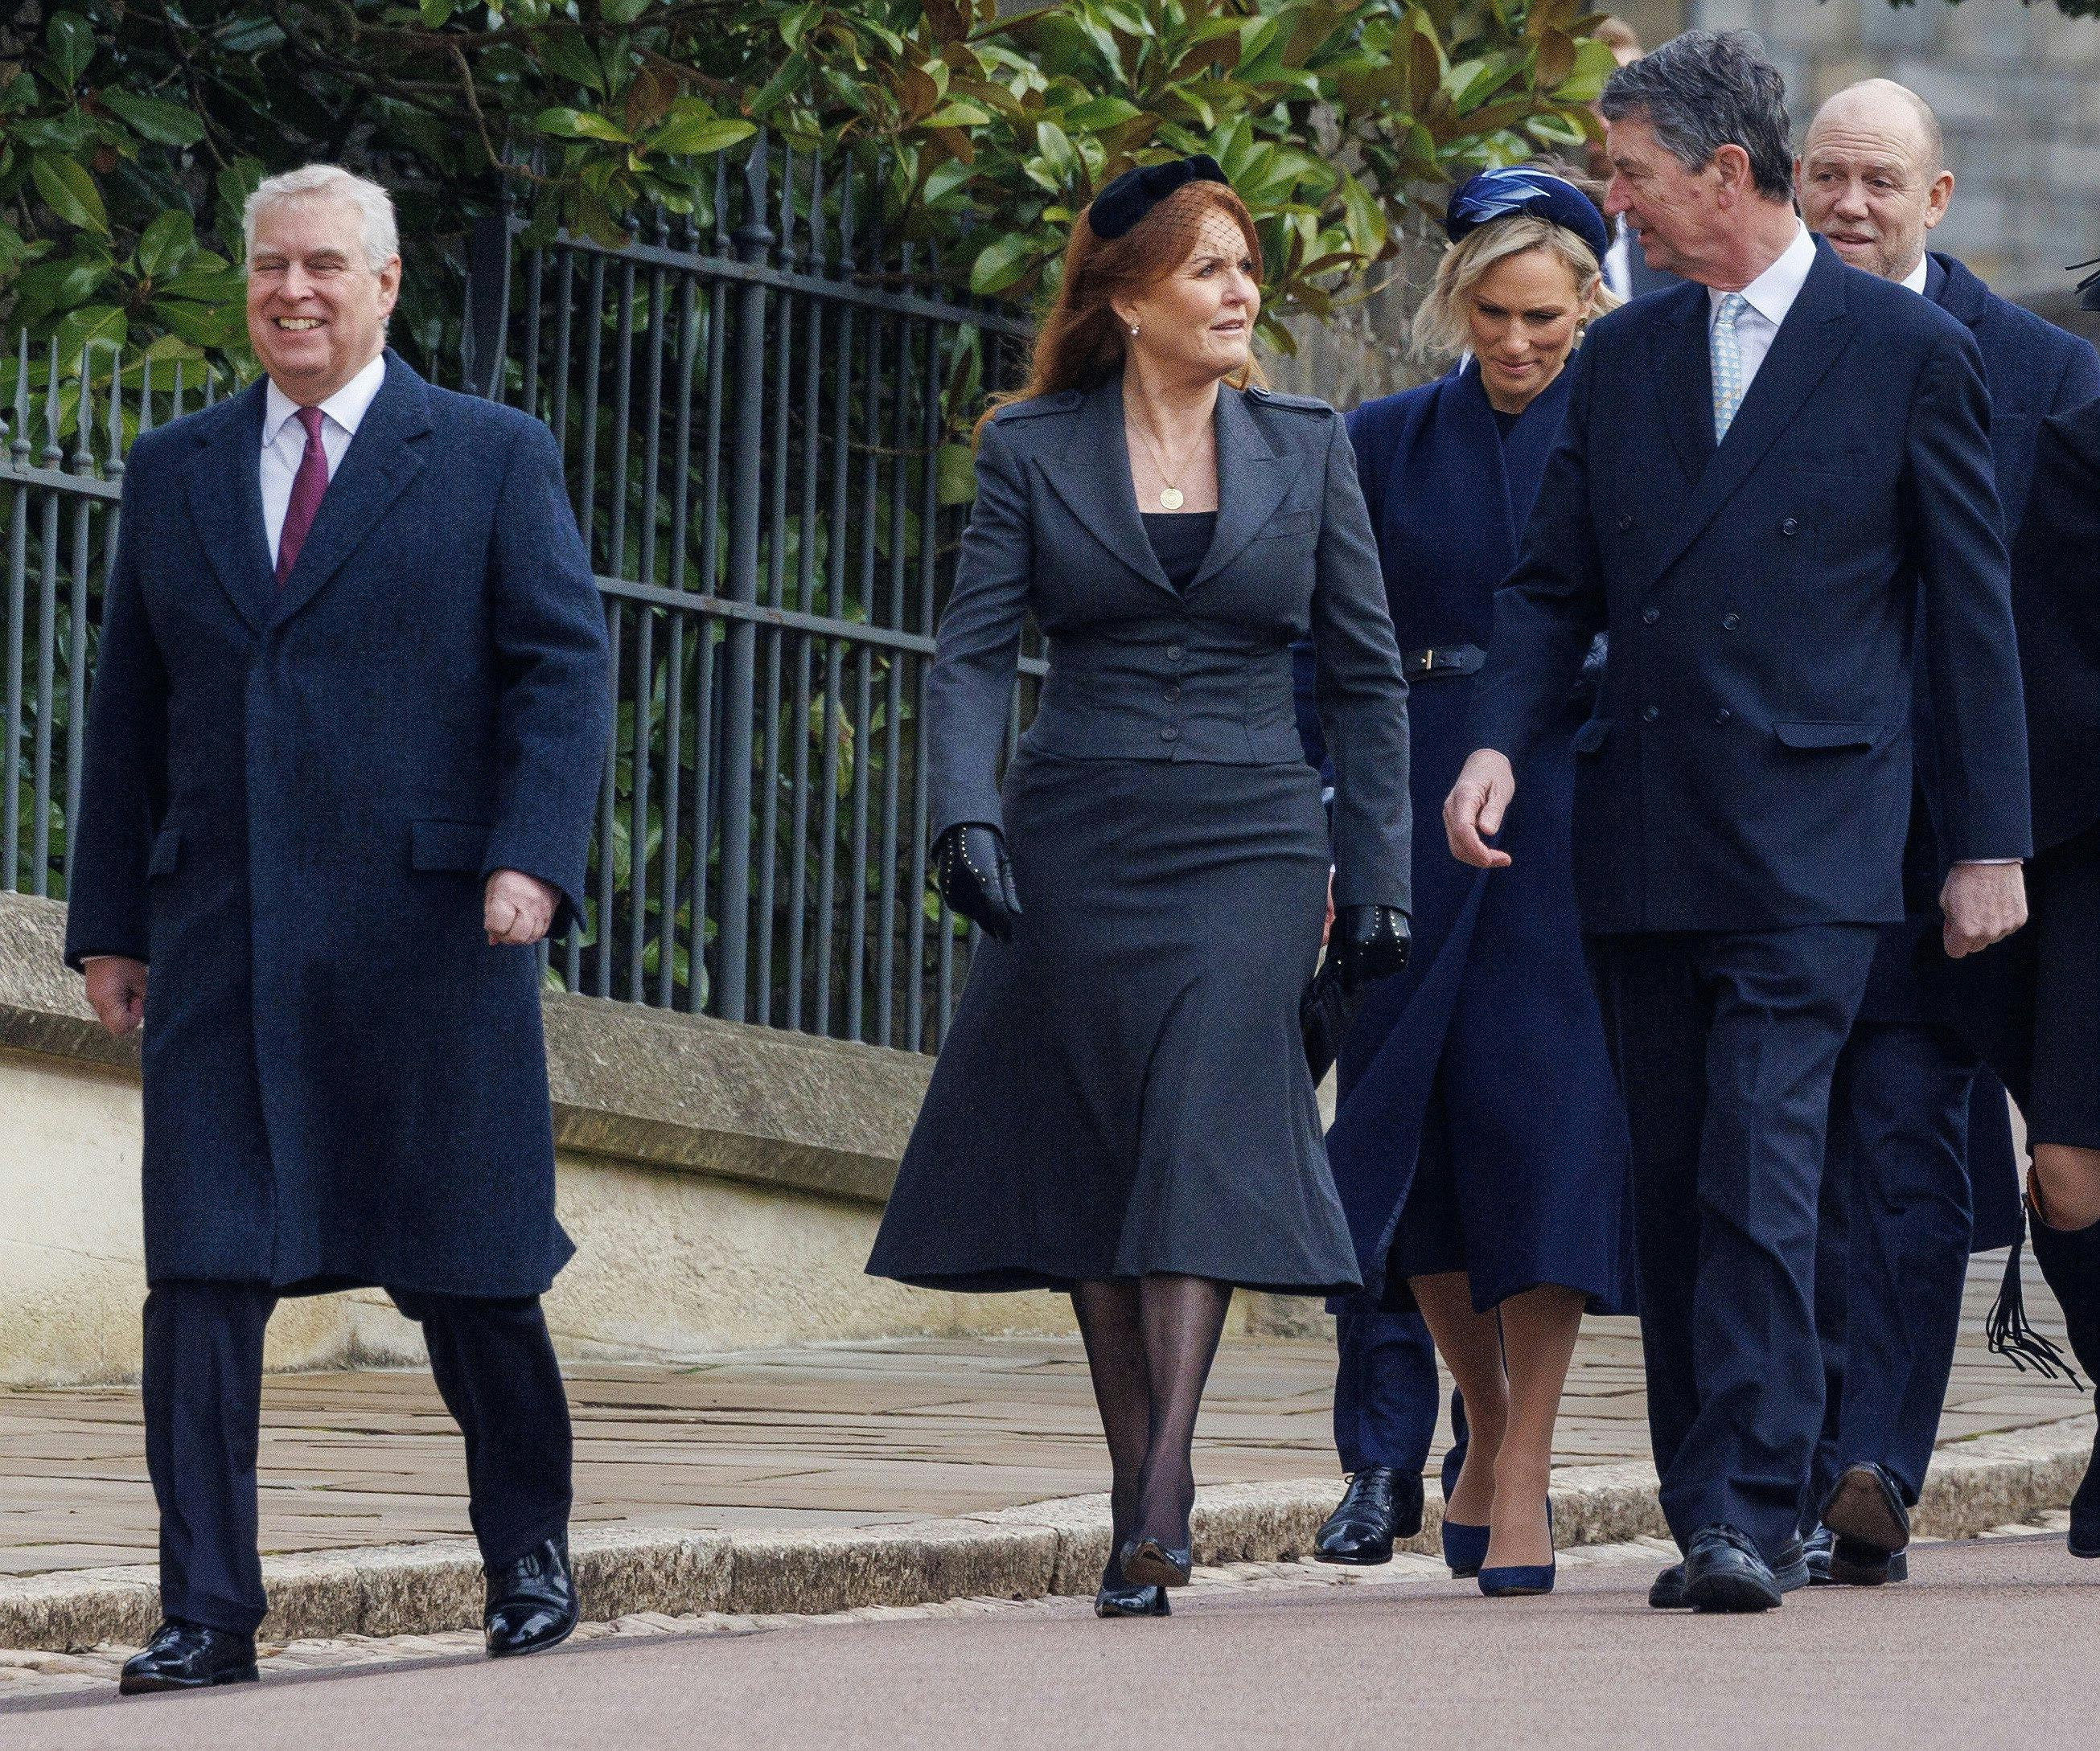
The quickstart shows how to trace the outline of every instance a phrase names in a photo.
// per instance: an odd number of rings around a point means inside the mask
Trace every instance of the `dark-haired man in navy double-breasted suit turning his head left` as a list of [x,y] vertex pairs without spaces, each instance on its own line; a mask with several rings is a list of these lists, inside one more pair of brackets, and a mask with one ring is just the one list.
[[2024,917],[1999,861],[2029,846],[2018,657],[1976,342],[1800,225],[1785,86],[1756,38],[1688,31],[1621,67],[1602,107],[1606,204],[1693,283],[1604,317],[1577,355],[1445,825],[1460,857],[1504,857],[1487,838],[1510,762],[1609,630],[1575,737],[1575,886],[1632,1121],[1648,1423],[1684,1549],[1653,1602],[1764,1610],[1808,1579],[1816,1184],[1838,1052],[1903,917],[1913,638],[1953,953]]

